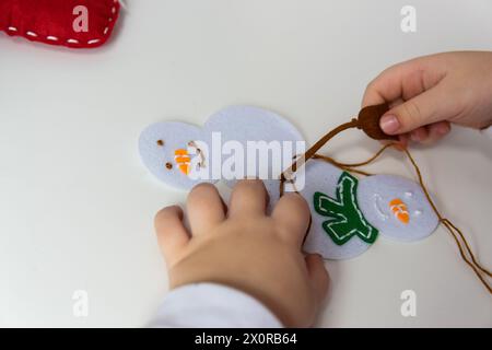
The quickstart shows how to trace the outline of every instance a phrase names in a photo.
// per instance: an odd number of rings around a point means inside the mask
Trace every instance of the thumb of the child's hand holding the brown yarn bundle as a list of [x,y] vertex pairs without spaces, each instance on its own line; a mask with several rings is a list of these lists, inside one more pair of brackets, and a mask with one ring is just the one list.
[[419,127],[444,119],[438,114],[438,104],[445,100],[438,85],[414,96],[385,113],[379,126],[388,135],[412,131]]

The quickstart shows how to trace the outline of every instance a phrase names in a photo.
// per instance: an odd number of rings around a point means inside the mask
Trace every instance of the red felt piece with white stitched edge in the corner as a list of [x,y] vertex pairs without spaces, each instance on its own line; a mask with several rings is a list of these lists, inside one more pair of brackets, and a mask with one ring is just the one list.
[[0,0],[0,31],[49,45],[94,48],[112,35],[119,10],[118,0]]

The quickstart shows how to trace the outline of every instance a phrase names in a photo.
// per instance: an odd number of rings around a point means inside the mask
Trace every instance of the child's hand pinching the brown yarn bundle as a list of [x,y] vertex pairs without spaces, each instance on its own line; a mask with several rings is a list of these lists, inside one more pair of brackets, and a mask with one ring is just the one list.
[[492,124],[492,52],[462,51],[421,57],[393,66],[368,85],[363,106],[388,102],[380,120],[402,142],[435,141],[449,122],[484,128]]

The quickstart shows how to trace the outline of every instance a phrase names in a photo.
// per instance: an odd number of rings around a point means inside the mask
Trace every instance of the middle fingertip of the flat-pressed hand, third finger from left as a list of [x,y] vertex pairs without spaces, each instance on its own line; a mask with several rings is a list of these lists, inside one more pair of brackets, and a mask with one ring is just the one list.
[[268,194],[260,179],[242,179],[231,194],[229,214],[233,217],[265,215]]

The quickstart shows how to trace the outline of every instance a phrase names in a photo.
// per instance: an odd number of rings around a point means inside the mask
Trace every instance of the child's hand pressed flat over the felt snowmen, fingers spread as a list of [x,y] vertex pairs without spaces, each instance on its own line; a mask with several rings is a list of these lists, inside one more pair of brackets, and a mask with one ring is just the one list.
[[179,207],[162,209],[155,229],[171,288],[216,282],[243,290],[268,306],[285,326],[309,326],[328,288],[318,255],[301,245],[309,209],[300,195],[285,194],[272,214],[260,180],[241,180],[227,208],[213,185],[196,186],[187,208],[191,235]]

